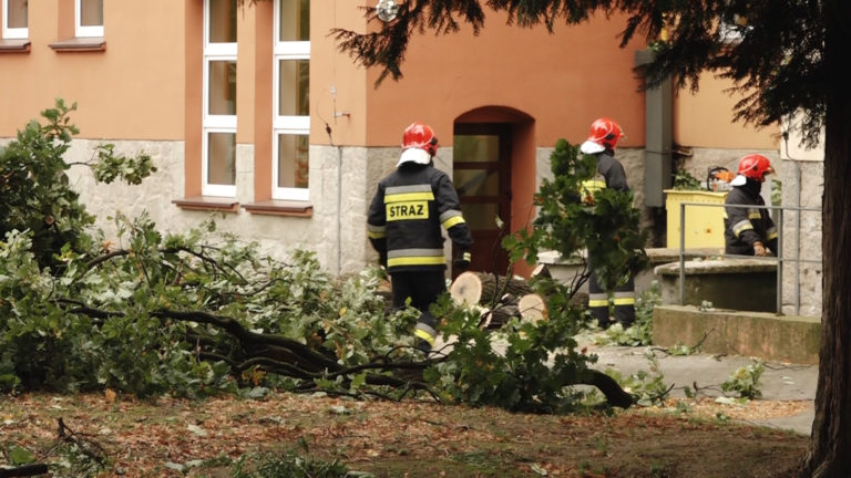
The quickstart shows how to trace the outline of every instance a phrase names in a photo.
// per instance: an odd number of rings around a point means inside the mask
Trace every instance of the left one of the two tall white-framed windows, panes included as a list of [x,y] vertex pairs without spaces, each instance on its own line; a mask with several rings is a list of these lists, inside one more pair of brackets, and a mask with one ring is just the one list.
[[236,0],[204,2],[204,196],[236,196]]

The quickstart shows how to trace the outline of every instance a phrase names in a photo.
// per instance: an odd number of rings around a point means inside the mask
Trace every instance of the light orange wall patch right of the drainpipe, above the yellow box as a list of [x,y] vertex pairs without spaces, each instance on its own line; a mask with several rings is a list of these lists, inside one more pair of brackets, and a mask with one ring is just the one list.
[[778,149],[779,127],[757,129],[734,122],[741,95],[727,91],[731,85],[707,72],[700,76],[697,93],[680,90],[674,97],[674,142],[690,147]]

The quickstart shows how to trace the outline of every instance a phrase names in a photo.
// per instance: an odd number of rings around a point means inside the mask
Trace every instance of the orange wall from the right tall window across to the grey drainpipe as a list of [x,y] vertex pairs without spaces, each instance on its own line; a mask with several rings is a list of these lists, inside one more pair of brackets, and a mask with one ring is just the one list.
[[[324,19],[311,20],[311,28],[368,28],[362,12],[350,2],[337,1],[334,9],[314,14],[312,19]],[[353,128],[341,133],[338,143],[397,146],[404,126],[422,121],[450,146],[458,116],[495,105],[533,116],[536,143],[542,146],[552,146],[560,137],[584,139],[591,122],[602,115],[622,122],[629,134],[625,146],[643,145],[644,95],[637,92],[639,83],[632,72],[635,50],[643,43],[618,48],[622,21],[558,27],[554,34],[542,27],[522,29],[505,21],[504,14],[489,13],[479,37],[469,27],[449,35],[414,34],[402,64],[404,77],[386,79],[377,89],[378,69],[365,72],[348,55],[337,53],[332,38],[314,31],[311,110],[322,118],[312,116],[311,143],[328,144],[327,137],[316,133],[322,133],[322,119],[335,119],[330,86],[336,85],[337,110],[351,113],[336,118],[336,129]]]

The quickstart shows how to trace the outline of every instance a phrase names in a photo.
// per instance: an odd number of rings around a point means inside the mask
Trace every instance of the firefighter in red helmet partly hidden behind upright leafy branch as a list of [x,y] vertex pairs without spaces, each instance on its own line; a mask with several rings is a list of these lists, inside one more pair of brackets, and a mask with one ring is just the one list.
[[[591,124],[591,133],[580,150],[594,155],[597,158],[597,175],[583,185],[585,188],[585,201],[593,202],[595,190],[612,188],[618,191],[628,191],[624,166],[615,158],[615,146],[624,136],[621,126],[613,119],[602,117]],[[609,325],[608,300],[609,293],[597,279],[594,267],[588,258],[591,277],[588,279],[588,309],[601,329]],[[625,272],[625,282],[618,283],[613,291],[615,302],[615,321],[624,329],[635,322],[635,281],[628,272]]]

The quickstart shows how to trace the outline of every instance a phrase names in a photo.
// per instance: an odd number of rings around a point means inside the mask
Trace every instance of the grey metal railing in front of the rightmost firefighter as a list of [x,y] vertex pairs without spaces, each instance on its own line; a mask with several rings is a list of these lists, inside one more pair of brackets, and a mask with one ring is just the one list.
[[[793,206],[757,206],[757,205],[726,205],[726,204],[708,204],[708,202],[694,202],[683,201],[679,202],[679,304],[685,303],[686,297],[686,207],[724,207],[724,208],[747,208],[747,209],[768,209],[776,211],[771,219],[775,221],[777,228],[777,257],[767,258],[773,259],[777,262],[777,313],[782,315],[783,312],[783,263],[794,263],[794,312],[796,315],[801,310],[801,263],[819,263],[821,264],[821,258],[819,259],[806,259],[801,258],[801,214],[806,211],[821,212],[821,208],[813,207],[793,207]],[[783,211],[797,211],[796,215],[796,235],[794,235],[794,258],[787,258],[783,256]],[[724,225],[721,225],[724,226]],[[768,245],[766,245],[768,246]],[[737,259],[752,259],[753,256],[740,256],[720,253],[724,258],[737,258]]]

